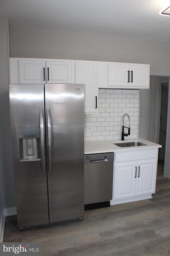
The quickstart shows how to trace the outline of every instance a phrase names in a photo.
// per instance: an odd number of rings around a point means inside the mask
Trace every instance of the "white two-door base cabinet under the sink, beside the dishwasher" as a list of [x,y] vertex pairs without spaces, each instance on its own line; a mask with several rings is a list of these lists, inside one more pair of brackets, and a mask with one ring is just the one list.
[[115,153],[111,204],[151,198],[155,193],[158,150]]

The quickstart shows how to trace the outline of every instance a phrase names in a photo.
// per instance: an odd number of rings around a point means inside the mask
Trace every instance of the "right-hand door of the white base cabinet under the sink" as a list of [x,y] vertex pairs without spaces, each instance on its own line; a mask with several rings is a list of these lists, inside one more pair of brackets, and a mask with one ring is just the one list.
[[155,193],[157,159],[137,162],[136,195]]

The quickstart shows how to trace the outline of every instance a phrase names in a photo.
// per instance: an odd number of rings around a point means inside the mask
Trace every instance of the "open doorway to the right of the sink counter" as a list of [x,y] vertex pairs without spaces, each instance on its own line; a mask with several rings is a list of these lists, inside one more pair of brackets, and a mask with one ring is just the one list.
[[170,178],[166,170],[169,77],[151,77],[149,140],[162,145],[158,154],[157,178]]

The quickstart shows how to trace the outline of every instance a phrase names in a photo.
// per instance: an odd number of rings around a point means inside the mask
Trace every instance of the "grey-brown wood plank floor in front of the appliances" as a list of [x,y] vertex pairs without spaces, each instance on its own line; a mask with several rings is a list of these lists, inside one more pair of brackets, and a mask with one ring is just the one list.
[[152,199],[88,210],[83,221],[19,231],[6,217],[3,242],[42,242],[43,256],[170,255],[170,179],[158,165]]

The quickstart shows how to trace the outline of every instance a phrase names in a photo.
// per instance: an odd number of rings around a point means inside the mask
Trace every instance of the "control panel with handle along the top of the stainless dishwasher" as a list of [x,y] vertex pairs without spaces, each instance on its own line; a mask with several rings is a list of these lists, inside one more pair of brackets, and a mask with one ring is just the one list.
[[97,161],[114,161],[114,153],[99,153],[99,154],[89,154],[84,155],[84,163],[92,163]]

